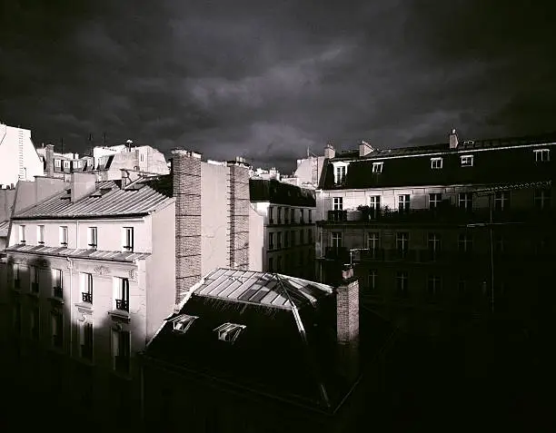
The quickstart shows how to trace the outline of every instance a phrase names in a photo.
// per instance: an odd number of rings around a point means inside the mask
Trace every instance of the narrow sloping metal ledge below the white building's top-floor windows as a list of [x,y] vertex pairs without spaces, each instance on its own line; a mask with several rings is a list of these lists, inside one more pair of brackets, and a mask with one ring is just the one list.
[[94,259],[97,261],[137,261],[144,260],[151,254],[148,252],[100,251],[63,247],[45,247],[43,245],[17,244],[5,249],[6,252],[25,252],[41,256],[70,257],[75,259]]

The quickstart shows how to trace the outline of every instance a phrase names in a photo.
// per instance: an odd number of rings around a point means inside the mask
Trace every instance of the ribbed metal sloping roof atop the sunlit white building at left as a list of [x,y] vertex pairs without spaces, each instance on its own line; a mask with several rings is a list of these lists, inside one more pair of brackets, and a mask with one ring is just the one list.
[[144,215],[174,201],[147,185],[121,189],[113,181],[96,182],[94,192],[76,202],[71,202],[70,197],[71,190],[64,190],[35,206],[17,212],[14,220]]

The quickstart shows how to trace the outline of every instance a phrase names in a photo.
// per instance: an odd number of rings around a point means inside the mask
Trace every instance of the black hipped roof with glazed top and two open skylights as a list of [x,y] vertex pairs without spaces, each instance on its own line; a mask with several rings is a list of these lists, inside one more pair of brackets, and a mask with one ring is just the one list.
[[[197,319],[175,332],[171,320],[184,314]],[[330,411],[353,385],[336,358],[335,319],[330,286],[221,268],[194,286],[144,354],[184,374]],[[218,340],[225,323],[245,327],[233,344]]]

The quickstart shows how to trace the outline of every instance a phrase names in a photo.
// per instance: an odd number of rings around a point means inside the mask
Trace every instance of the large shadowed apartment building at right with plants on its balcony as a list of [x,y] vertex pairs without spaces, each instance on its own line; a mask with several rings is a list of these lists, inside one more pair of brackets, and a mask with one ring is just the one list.
[[532,317],[551,281],[554,152],[551,136],[460,142],[455,131],[430,146],[327,146],[319,280],[352,262],[363,302],[412,330],[458,314]]

